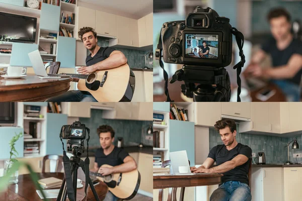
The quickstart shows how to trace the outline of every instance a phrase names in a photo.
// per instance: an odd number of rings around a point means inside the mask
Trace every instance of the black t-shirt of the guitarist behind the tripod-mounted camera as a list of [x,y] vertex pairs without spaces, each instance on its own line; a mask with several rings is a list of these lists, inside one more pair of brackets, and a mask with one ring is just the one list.
[[129,154],[123,148],[114,147],[112,152],[107,156],[104,154],[104,150],[100,148],[96,151],[95,162],[98,163],[98,167],[101,167],[104,164],[117,166],[123,164],[123,161],[127,156],[129,156]]

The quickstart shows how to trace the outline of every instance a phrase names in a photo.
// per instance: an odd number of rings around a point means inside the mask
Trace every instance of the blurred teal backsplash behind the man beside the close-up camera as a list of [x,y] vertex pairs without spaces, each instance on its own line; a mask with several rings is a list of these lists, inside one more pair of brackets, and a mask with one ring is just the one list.
[[[252,2],[252,32],[253,33],[269,33],[269,24],[266,16],[270,9],[275,7],[285,8],[292,20],[301,20],[302,3],[300,1],[280,1],[280,0],[265,0]],[[238,16],[240,17],[240,16]]]

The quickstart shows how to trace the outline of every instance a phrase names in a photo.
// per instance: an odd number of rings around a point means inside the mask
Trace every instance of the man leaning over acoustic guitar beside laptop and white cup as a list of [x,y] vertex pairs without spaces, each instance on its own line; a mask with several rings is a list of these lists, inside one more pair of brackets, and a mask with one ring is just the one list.
[[[61,95],[48,98],[46,101],[118,102],[131,100],[133,95],[131,92],[129,94],[129,90],[131,91],[131,89],[129,89],[129,74],[131,70],[129,71],[129,66],[126,64],[127,58],[125,55],[112,47],[98,46],[97,33],[91,27],[83,27],[78,32],[78,35],[90,54],[86,57],[86,66],[78,68],[77,71],[81,74],[90,74],[97,71],[93,76],[93,79],[95,78],[95,80],[92,80],[91,83],[87,83],[89,79],[88,75],[67,74],[72,76],[73,81],[79,81],[78,88],[80,90],[69,90]],[[119,76],[121,76],[121,78]],[[112,85],[116,90],[112,90],[110,87],[108,88],[108,86]],[[134,88],[132,88],[132,90],[134,90]],[[110,91],[112,94],[110,94]],[[108,98],[104,97],[105,95],[108,96]],[[117,97],[114,99],[114,96]],[[126,98],[124,96],[126,96]]]

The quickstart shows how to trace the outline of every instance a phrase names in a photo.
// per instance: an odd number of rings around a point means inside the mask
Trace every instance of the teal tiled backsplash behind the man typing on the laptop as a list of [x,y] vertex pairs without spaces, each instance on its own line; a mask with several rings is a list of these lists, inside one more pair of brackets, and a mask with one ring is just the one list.
[[[237,142],[248,145],[251,147],[253,153],[264,152],[266,163],[277,163],[283,164],[287,161],[287,147],[286,144],[290,142],[294,137],[274,137],[266,135],[255,135],[239,133],[236,135]],[[296,158],[293,159],[293,153],[302,153],[302,139],[301,135],[295,136],[299,144],[299,149],[291,149],[289,146],[289,160],[291,162],[296,162]],[[214,128],[209,128],[209,145],[210,149],[218,144],[222,144],[219,133]],[[302,163],[302,158],[297,158],[298,163]]]

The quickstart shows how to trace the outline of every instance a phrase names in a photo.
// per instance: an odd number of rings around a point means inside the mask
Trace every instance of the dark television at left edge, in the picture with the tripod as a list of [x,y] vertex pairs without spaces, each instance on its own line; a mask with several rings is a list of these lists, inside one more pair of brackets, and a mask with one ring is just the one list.
[[17,103],[0,103],[0,126],[17,126]]

